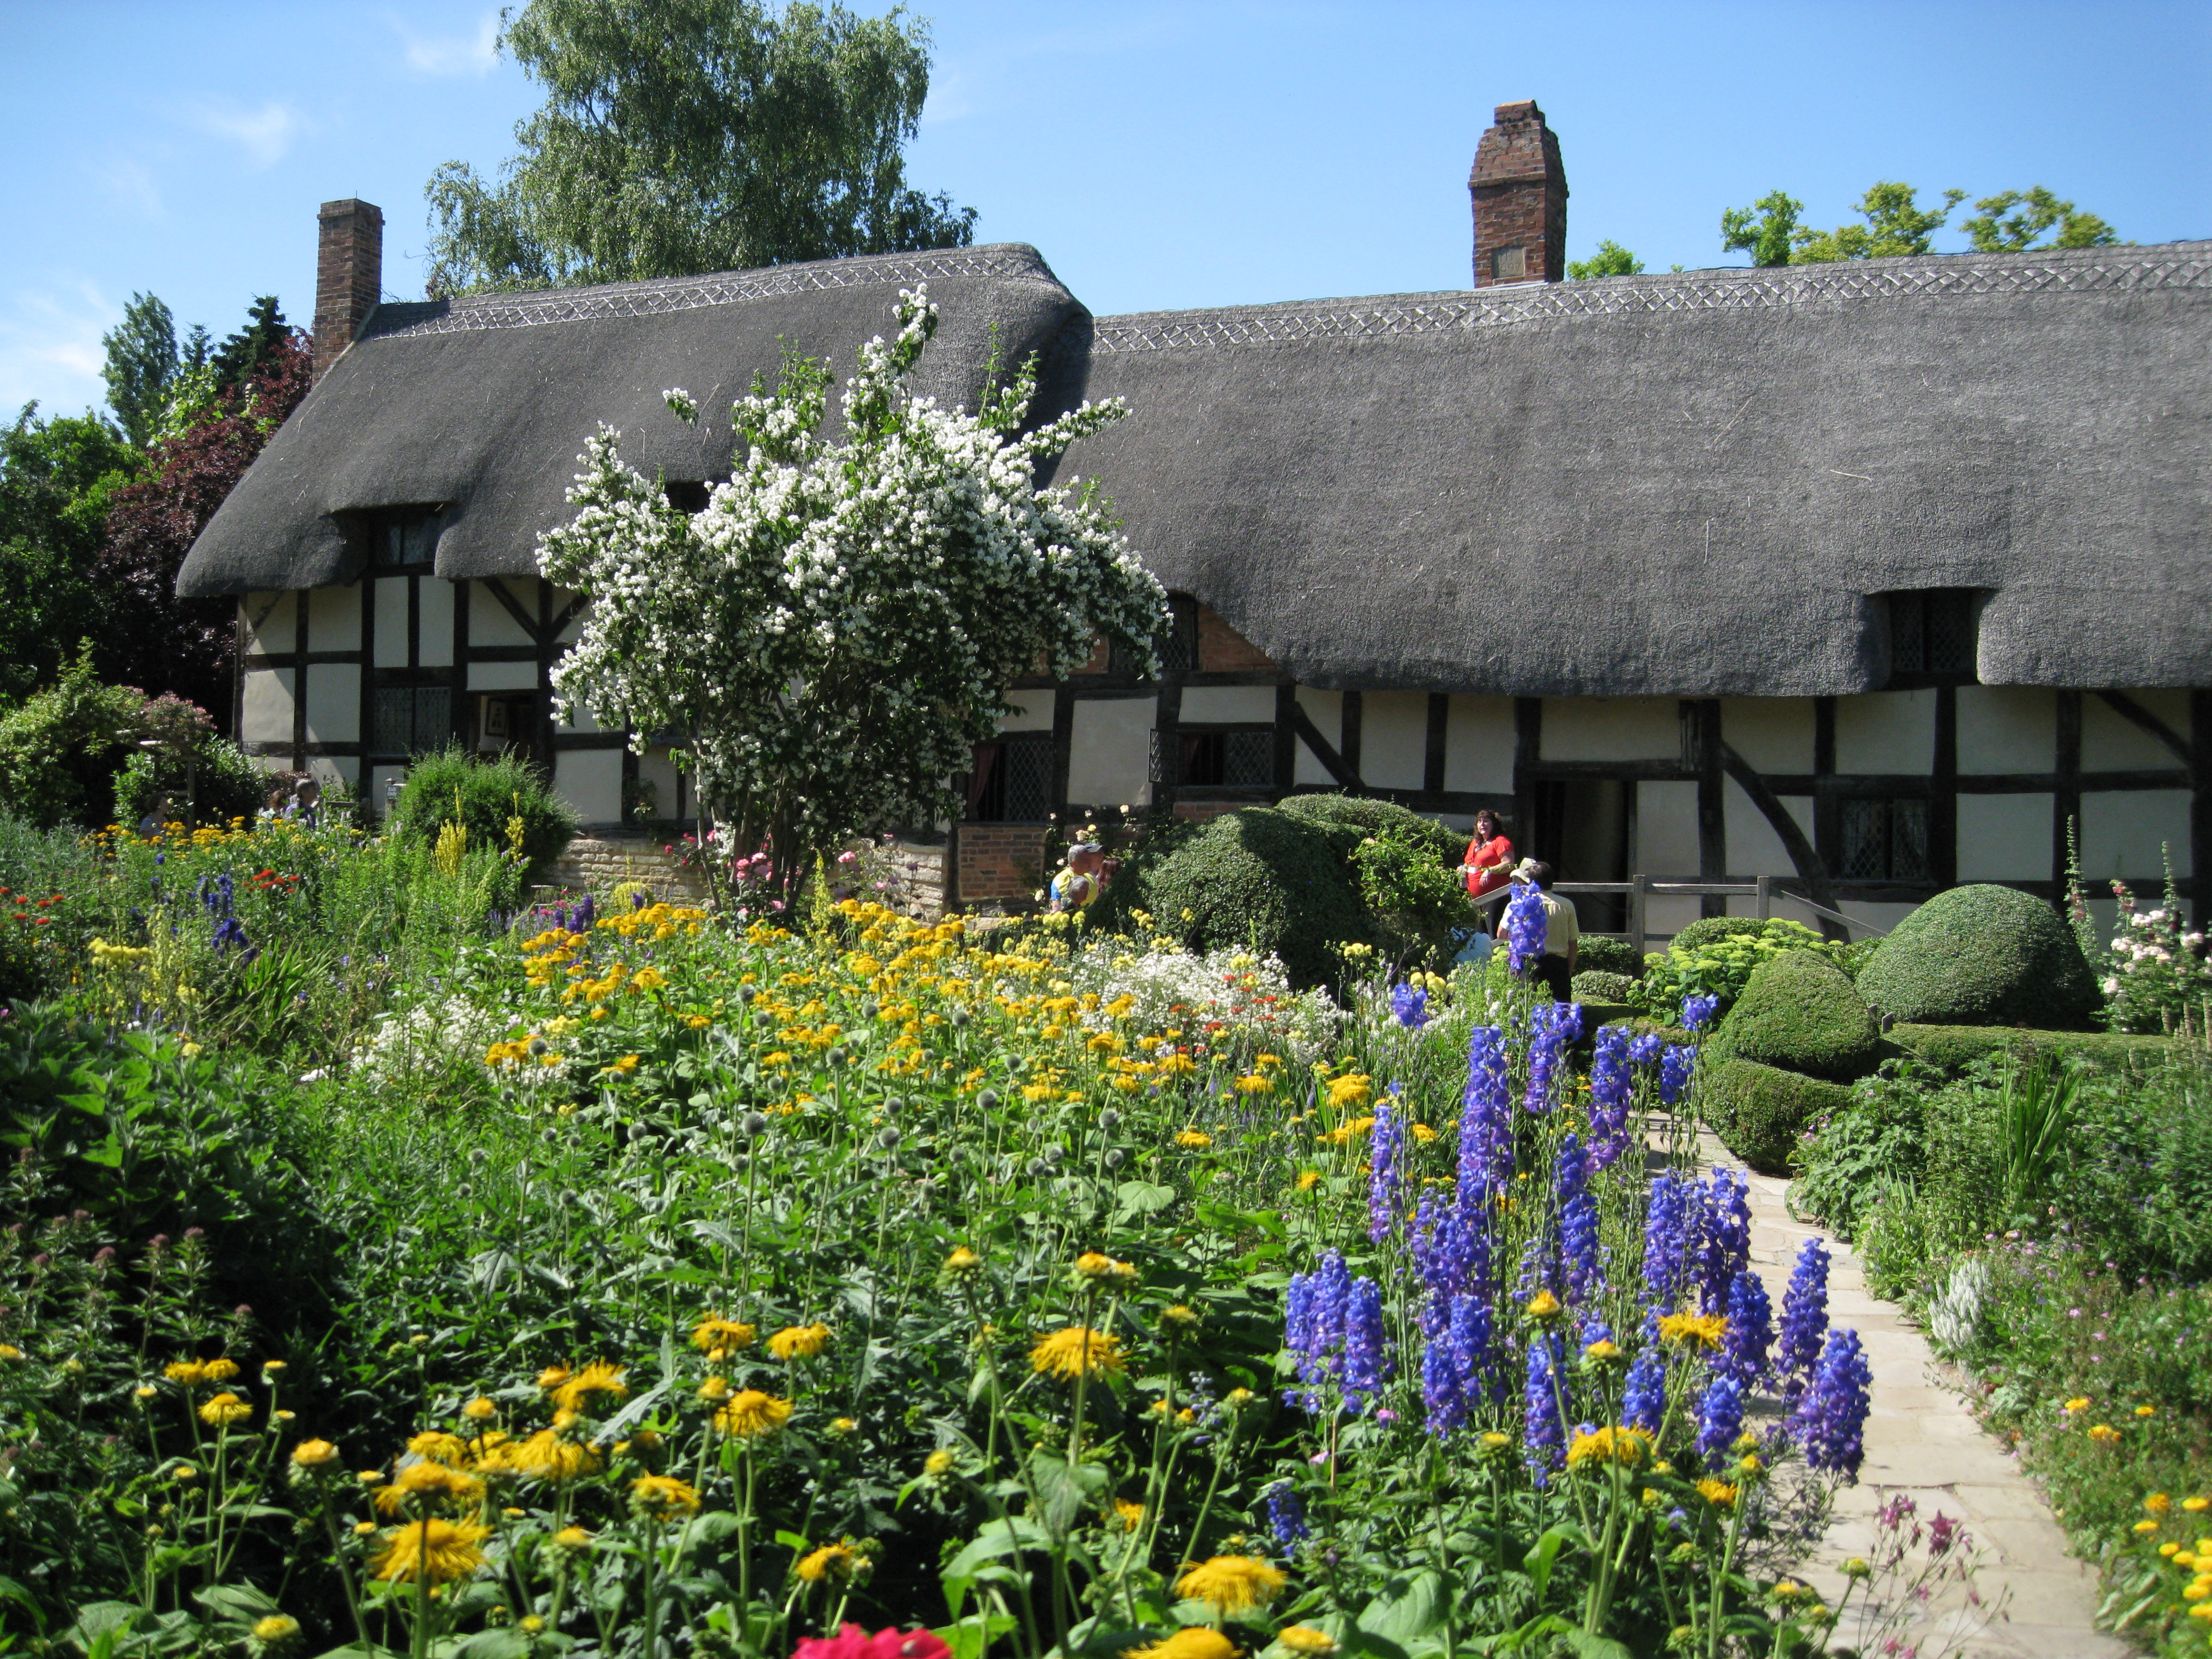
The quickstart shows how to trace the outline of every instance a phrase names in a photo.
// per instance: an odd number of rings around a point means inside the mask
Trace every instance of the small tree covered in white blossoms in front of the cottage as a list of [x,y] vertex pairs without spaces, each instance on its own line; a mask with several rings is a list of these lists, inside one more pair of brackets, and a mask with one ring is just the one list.
[[[688,732],[701,801],[763,845],[774,887],[847,836],[931,823],[1006,684],[1075,672],[1099,635],[1157,670],[1166,593],[1104,502],[1035,482],[1037,462],[1121,418],[1084,405],[1024,434],[1035,363],[940,409],[907,376],[936,332],[927,290],[900,292],[898,338],[860,347],[845,434],[823,436],[832,376],[790,356],[770,396],[734,407],[737,476],[699,513],[622,462],[599,427],[538,568],[591,595],[553,670],[564,717]],[[668,407],[697,420],[684,392]]]

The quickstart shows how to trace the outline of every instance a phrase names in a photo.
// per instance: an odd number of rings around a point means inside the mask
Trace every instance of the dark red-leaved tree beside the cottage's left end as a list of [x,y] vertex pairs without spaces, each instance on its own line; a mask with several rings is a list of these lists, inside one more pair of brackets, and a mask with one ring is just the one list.
[[111,606],[108,679],[170,690],[228,717],[237,602],[179,599],[177,568],[310,385],[314,347],[305,332],[288,330],[246,385],[219,392],[181,436],[155,442],[139,480],[115,491],[95,566]]

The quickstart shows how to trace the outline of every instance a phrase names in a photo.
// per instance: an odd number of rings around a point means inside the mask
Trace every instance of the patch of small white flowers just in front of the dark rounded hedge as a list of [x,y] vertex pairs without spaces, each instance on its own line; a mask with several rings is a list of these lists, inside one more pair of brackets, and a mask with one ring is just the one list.
[[[1128,1018],[1148,1031],[1181,1029],[1194,1044],[1250,1060],[1267,1051],[1298,1064],[1327,1053],[1338,1009],[1327,991],[1292,991],[1283,964],[1252,951],[1190,951],[1166,942],[1139,949],[1102,938],[1068,960],[1075,993],[1130,998]],[[1091,1024],[1106,1024],[1097,1013]]]

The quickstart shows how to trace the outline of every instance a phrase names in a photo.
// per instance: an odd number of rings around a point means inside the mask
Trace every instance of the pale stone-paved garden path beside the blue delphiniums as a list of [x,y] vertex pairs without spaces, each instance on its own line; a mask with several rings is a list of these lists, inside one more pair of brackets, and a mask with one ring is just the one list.
[[[1734,1157],[1710,1135],[1699,1137],[1705,1164]],[[1927,1615],[1924,1652],[1953,1650],[1971,1659],[2121,1659],[2135,1652],[2093,1624],[2097,1575],[2068,1555],[2066,1533],[2020,1464],[1984,1433],[1964,1400],[1947,1387],[1955,1378],[1929,1349],[1905,1310],[1867,1290],[1867,1276],[1849,1245],[1818,1225],[1798,1221],[1785,1201],[1787,1181],[1745,1172],[1752,1201],[1752,1265],[1781,1307],[1783,1287],[1805,1239],[1829,1248],[1827,1312],[1836,1325],[1851,1325],[1874,1367],[1874,1411],[1867,1418],[1867,1462],[1856,1486],[1836,1495],[1836,1517],[1809,1573],[1834,1606],[1843,1577],[1834,1566],[1851,1555],[1874,1555],[1874,1513],[1905,1493],[1933,1520],[1936,1511],[1966,1522],[1984,1551],[1975,1590],[1984,1615],[1938,1597]],[[1847,1624],[1851,1624],[1847,1615]],[[1975,1626],[1982,1626],[1980,1630]],[[1838,1632],[1849,1635],[1849,1632]],[[1949,1641],[1944,1639],[1949,1637]]]

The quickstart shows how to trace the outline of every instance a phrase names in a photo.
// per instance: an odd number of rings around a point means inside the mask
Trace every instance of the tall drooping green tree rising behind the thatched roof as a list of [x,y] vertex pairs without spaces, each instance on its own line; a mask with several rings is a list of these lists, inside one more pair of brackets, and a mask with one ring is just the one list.
[[960,248],[905,181],[929,31],[794,0],[531,0],[500,46],[546,91],[498,184],[447,161],[431,294]]

